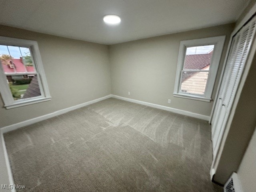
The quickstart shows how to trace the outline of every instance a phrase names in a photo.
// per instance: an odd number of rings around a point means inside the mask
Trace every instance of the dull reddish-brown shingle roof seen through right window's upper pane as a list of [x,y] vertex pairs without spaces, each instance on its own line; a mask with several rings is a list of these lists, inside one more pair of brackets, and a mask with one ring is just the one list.
[[212,51],[208,54],[186,55],[184,69],[203,69],[210,65]]

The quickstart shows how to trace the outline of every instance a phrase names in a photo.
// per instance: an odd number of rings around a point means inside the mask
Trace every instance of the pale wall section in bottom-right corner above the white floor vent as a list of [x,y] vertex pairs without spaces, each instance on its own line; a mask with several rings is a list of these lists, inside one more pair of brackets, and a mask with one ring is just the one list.
[[256,191],[256,130],[244,154],[237,174],[242,183],[244,192]]

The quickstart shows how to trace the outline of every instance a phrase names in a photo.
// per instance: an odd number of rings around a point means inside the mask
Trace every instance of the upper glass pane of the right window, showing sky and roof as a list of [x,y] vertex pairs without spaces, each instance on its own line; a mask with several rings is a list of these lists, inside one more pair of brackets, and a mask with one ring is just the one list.
[[209,70],[214,45],[187,47],[184,70]]

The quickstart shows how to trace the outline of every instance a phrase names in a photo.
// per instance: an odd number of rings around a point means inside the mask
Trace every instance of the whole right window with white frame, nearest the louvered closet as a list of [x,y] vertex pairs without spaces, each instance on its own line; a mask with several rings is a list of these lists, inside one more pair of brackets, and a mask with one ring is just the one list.
[[210,102],[225,36],[180,42],[174,96]]

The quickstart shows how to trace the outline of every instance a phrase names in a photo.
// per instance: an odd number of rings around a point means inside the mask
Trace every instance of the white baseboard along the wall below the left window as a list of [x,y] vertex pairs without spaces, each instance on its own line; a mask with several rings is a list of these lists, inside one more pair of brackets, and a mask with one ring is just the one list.
[[96,103],[96,102],[99,102],[99,101],[102,101],[102,100],[105,100],[105,99],[108,99],[108,98],[111,98],[111,97],[112,97],[112,95],[107,95],[107,96],[104,96],[104,97],[101,97],[101,98],[98,98],[98,99],[94,99],[94,100],[91,100],[91,101],[88,101],[88,102],[85,102],[85,103],[82,103],[82,104],[78,104],[78,105],[69,107],[69,108],[58,110],[58,111],[55,111],[53,113],[49,113],[49,114],[46,114],[46,115],[43,115],[43,116],[40,116],[40,117],[36,117],[36,118],[33,118],[33,119],[22,121],[22,122],[12,124],[12,125],[9,125],[9,126],[5,126],[5,127],[0,128],[0,130],[2,131],[2,133],[6,133],[6,132],[16,130],[16,129],[24,127],[24,126],[28,126],[28,125],[40,122],[42,120],[46,120],[46,119],[64,114],[66,112],[69,112],[69,111],[72,111],[72,110],[75,110],[75,109],[78,109],[78,108],[81,108],[81,107],[84,107],[84,106],[88,106],[90,104],[93,104],[93,103]]

